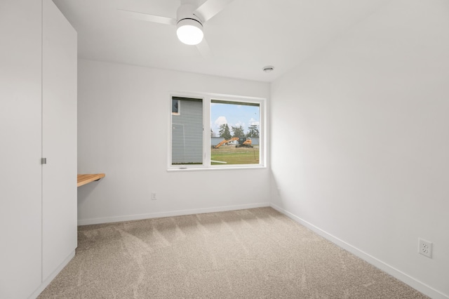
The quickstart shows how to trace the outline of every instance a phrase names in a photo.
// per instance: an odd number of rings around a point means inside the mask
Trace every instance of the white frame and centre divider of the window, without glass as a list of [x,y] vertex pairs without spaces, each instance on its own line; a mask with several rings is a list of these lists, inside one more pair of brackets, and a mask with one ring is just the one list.
[[[184,164],[184,165],[172,165],[172,99],[173,97],[180,98],[198,98],[203,101],[203,164]],[[210,103],[212,100],[223,100],[227,102],[251,102],[257,103],[260,107],[259,121],[259,164],[232,164],[232,165],[211,165],[210,164]],[[168,171],[210,171],[210,170],[223,170],[223,169],[251,169],[251,168],[267,168],[267,99],[255,98],[239,95],[221,95],[214,93],[185,93],[177,92],[170,93],[168,100],[170,105],[168,114],[168,159],[167,170]],[[179,110],[178,110],[179,112]]]

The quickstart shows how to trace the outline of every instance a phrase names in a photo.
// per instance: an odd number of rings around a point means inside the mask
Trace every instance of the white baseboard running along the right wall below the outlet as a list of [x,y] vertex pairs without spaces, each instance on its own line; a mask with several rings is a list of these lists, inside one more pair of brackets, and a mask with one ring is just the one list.
[[290,213],[290,212],[284,210],[283,208],[276,206],[275,204],[270,204],[270,206],[272,208],[274,208],[276,211],[279,211],[279,212],[283,213],[284,215],[288,216],[288,218],[291,218],[291,219],[295,220],[296,222],[300,223],[300,225],[304,225],[304,227],[307,227],[310,230],[316,232],[316,234],[319,234],[321,237],[333,242],[333,244],[340,246],[341,248],[358,256],[358,258],[361,258],[362,260],[365,260],[366,262],[379,268],[380,270],[387,272],[392,277],[395,277],[396,279],[403,281],[403,283],[408,284],[409,286],[411,286],[412,288],[415,288],[417,291],[420,291],[424,295],[427,295],[433,299],[449,299],[449,295],[445,295],[445,294],[437,291],[436,289],[431,288],[430,286],[427,286],[427,284],[424,284],[421,281],[418,281],[417,279],[410,277],[408,274],[401,272],[400,270],[397,270],[394,267],[391,267],[390,265],[382,262],[382,260],[378,260],[377,258],[373,257],[372,255],[369,255],[368,253],[361,251],[360,249],[352,246],[351,244],[348,244],[345,241],[342,241],[341,239],[334,237],[332,234],[329,234],[328,232],[321,230],[319,227],[316,227],[315,225],[312,225],[310,222],[307,222],[307,221],[303,220],[302,218],[297,217],[293,213]]

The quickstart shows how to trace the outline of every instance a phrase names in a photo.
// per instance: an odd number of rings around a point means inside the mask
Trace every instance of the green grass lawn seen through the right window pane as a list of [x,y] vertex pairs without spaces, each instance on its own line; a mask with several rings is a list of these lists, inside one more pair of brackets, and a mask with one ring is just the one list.
[[[214,161],[226,162],[217,163]],[[259,164],[259,146],[236,147],[235,145],[222,145],[217,149],[210,150],[210,164]]]

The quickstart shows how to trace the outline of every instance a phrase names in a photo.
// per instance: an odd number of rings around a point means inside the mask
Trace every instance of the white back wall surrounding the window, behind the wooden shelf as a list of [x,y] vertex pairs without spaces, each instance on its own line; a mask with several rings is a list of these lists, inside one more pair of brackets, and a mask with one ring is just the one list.
[[[79,224],[269,204],[269,170],[168,172],[170,93],[269,97],[269,84],[79,60]],[[151,200],[151,192],[158,199]]]

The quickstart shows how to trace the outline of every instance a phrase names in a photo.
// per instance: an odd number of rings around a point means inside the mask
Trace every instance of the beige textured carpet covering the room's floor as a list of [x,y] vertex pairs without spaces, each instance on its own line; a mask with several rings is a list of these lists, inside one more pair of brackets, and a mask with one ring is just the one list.
[[272,208],[79,227],[39,298],[427,298]]

